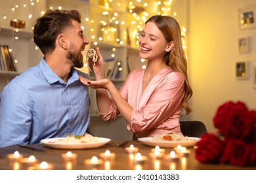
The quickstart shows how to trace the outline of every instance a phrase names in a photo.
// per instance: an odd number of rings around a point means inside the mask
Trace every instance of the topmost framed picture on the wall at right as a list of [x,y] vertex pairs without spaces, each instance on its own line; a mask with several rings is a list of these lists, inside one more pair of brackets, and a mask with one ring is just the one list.
[[239,9],[240,29],[249,29],[256,27],[256,6]]

